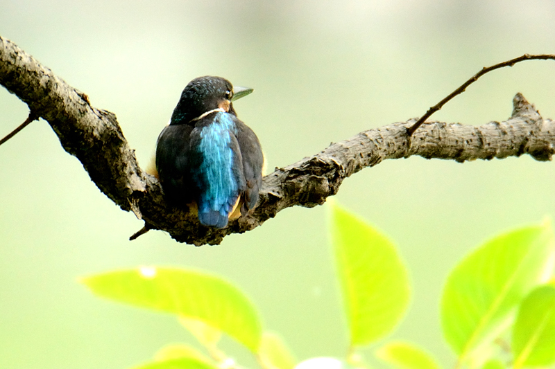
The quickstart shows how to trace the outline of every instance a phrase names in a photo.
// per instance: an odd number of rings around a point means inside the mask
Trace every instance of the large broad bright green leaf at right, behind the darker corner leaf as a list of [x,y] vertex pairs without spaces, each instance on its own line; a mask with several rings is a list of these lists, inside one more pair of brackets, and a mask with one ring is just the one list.
[[555,261],[549,224],[520,228],[481,245],[450,273],[441,298],[443,334],[459,361],[480,361],[514,319],[520,300],[549,279]]

